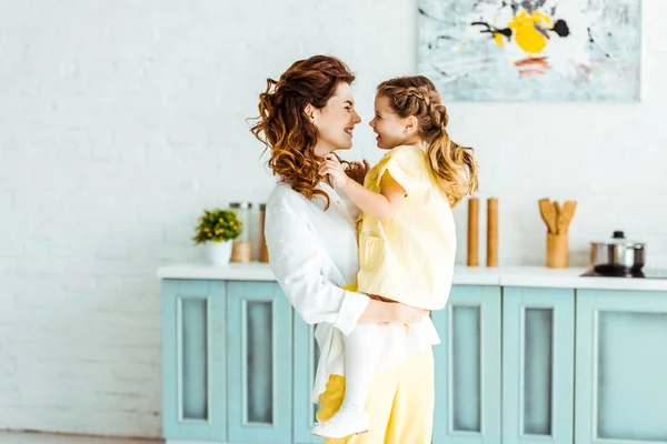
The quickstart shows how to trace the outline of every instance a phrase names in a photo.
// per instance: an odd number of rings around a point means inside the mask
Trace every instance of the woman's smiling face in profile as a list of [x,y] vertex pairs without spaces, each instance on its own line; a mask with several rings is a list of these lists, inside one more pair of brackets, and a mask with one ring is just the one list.
[[317,127],[316,152],[319,155],[352,148],[352,130],[361,118],[355,110],[355,98],[349,84],[339,83],[325,108],[313,109],[312,118]]

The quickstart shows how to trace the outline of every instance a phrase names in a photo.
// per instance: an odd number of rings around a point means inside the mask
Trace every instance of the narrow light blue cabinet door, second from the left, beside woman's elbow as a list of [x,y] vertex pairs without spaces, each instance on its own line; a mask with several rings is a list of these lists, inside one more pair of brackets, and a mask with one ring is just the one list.
[[228,282],[229,441],[291,442],[291,309],[275,282]]

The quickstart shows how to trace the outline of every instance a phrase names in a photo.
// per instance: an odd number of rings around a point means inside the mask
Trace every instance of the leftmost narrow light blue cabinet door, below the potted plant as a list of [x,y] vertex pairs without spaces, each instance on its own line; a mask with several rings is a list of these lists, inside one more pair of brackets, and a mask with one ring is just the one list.
[[166,438],[227,438],[225,334],[225,282],[162,281]]

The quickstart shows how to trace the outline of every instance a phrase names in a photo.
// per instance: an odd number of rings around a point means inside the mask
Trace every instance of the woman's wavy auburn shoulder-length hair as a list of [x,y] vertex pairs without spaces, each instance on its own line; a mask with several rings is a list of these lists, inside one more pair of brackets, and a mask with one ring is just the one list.
[[306,115],[306,105],[322,109],[338,84],[352,83],[355,74],[340,60],[313,56],[292,63],[277,81],[267,79],[259,94],[259,117],[250,131],[271,151],[269,168],[292,190],[307,199],[329,196],[316,186],[321,158],[315,152],[317,128]]

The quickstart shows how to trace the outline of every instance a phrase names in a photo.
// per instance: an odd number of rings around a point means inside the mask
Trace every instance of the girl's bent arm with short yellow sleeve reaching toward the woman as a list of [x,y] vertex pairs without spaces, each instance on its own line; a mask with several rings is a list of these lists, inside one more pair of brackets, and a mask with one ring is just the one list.
[[406,196],[406,190],[388,172],[380,180],[380,193],[364,188],[348,178],[334,154],[328,154],[325,158],[319,173],[321,175],[329,174],[336,186],[350,198],[357,206],[379,221],[388,221],[394,218]]

